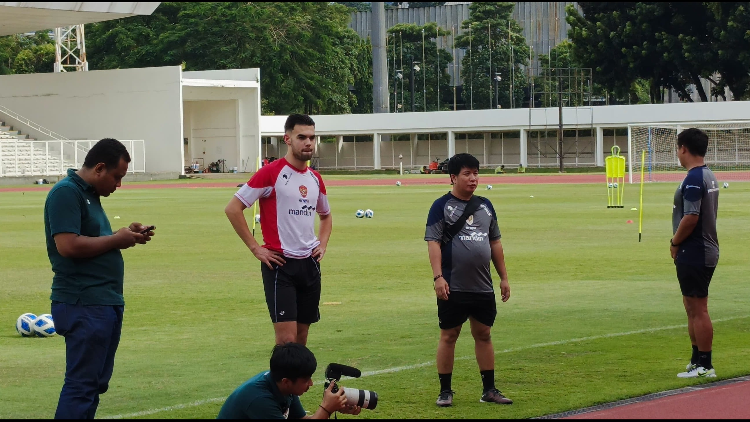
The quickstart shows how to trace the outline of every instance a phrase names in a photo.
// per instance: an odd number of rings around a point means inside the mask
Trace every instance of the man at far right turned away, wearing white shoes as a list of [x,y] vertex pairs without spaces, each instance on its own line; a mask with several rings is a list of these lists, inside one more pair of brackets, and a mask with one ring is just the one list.
[[708,315],[708,286],[718,264],[716,214],[718,182],[703,162],[708,136],[690,128],[677,137],[677,158],[688,174],[674,193],[670,255],[677,270],[682,303],[688,314],[688,334],[693,346],[686,372],[679,378],[713,378],[711,364],[713,327]]

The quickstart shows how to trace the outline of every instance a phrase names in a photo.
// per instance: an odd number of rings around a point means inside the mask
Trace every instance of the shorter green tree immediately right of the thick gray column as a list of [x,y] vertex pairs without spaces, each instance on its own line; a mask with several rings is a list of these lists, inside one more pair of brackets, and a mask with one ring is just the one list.
[[[392,111],[411,111],[409,78],[412,60],[419,66],[419,71],[415,71],[414,74],[415,111],[451,110],[452,107],[449,105],[452,104],[443,101],[443,97],[445,97],[446,89],[450,87],[448,64],[452,62],[453,55],[446,50],[438,50],[435,41],[437,37],[446,35],[450,35],[450,32],[439,28],[434,22],[425,23],[425,25],[400,23],[388,30],[391,107],[394,107],[394,92],[398,97],[396,104],[401,105],[397,107],[398,110]],[[398,74],[401,74],[401,78]],[[441,98],[438,98],[439,93]]]

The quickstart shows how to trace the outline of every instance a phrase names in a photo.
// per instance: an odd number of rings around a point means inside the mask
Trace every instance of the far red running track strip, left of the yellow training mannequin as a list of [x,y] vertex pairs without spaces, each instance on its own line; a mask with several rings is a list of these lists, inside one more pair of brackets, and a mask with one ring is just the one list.
[[[325,180],[325,176],[323,176]],[[556,175],[533,175],[533,176],[479,176],[479,182],[490,184],[502,183],[598,183],[604,182],[604,174],[556,174]],[[326,180],[328,186],[389,186],[393,185],[393,179],[353,179],[353,180]],[[236,188],[237,182],[214,182],[214,183],[160,183],[150,185],[123,185],[121,189],[163,189],[163,188]],[[402,185],[448,185],[449,178],[446,175],[441,179],[407,179]],[[0,188],[0,192],[21,191],[49,191],[52,185],[33,185],[28,187]]]

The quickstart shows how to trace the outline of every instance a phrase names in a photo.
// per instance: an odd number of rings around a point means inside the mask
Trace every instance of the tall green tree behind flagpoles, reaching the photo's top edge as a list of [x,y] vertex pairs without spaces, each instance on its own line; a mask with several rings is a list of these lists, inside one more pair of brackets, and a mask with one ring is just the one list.
[[[520,66],[528,64],[529,47],[522,29],[511,19],[514,5],[490,2],[469,6],[463,34],[456,37],[456,47],[466,50],[462,65],[463,101],[469,104],[467,108],[493,108],[496,103],[503,108],[511,107],[511,84],[516,107],[523,101],[526,77]],[[496,77],[500,78],[497,98]]]

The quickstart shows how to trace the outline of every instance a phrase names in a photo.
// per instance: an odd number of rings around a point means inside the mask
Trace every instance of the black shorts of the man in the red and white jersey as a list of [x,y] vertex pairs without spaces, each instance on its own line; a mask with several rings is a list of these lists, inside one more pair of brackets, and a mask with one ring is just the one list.
[[270,270],[260,264],[263,290],[273,322],[297,321],[313,324],[320,320],[320,263],[315,258],[286,258],[287,264]]

